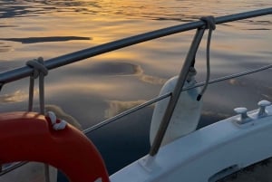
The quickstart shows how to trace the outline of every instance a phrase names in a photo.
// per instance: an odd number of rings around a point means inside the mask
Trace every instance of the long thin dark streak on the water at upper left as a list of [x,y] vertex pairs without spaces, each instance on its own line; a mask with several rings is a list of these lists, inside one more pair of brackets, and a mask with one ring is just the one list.
[[80,36],[49,36],[49,37],[26,37],[26,38],[2,38],[0,40],[14,41],[19,43],[44,43],[44,42],[63,42],[72,40],[92,40],[92,38]]

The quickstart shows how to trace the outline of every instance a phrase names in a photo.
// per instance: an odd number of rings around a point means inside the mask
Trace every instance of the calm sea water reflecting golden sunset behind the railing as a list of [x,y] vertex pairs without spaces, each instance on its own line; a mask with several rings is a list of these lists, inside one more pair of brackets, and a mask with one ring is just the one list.
[[[0,72],[72,53],[134,34],[271,7],[270,0],[0,0]],[[211,78],[272,62],[271,15],[218,25],[210,51]],[[61,107],[86,129],[157,96],[163,82],[180,72],[194,31],[140,43],[53,70],[46,76],[45,101]],[[206,75],[206,35],[197,56],[197,80]],[[272,101],[271,69],[210,85],[199,126]],[[37,91],[36,91],[37,92]],[[36,94],[37,95],[37,94]],[[5,85],[0,109],[27,110],[28,80]],[[35,108],[38,101],[35,99]],[[110,173],[148,151],[152,107],[90,134]]]

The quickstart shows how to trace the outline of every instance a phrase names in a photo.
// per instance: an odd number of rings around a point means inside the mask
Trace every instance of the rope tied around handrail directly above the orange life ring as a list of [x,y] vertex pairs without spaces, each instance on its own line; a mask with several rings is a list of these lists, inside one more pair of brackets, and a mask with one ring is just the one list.
[[44,59],[39,57],[38,59],[26,62],[26,65],[34,69],[33,75],[30,76],[28,110],[33,110],[34,79],[39,77],[40,110],[44,114],[44,76],[48,74],[48,70],[44,66]]

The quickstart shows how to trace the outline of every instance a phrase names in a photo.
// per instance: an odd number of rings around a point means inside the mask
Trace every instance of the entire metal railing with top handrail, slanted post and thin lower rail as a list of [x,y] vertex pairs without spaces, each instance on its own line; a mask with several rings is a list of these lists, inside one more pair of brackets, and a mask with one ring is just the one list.
[[[232,21],[247,19],[250,17],[256,17],[256,16],[261,16],[261,15],[266,15],[266,14],[272,14],[272,7],[266,8],[266,9],[260,9],[260,10],[256,10],[256,11],[250,11],[250,12],[246,12],[246,13],[231,14],[231,15],[217,17],[217,18],[215,18],[215,24],[224,24],[224,23],[228,23],[228,22],[232,22]],[[104,121],[102,121],[102,123],[99,123],[89,129],[83,130],[84,133],[91,132],[92,130],[101,128],[102,126],[104,126],[108,123],[111,123],[114,120],[118,120],[121,117],[130,114],[131,112],[134,112],[136,110],[140,110],[141,108],[151,105],[152,103],[154,103],[156,101],[160,101],[162,99],[170,97],[170,102],[169,102],[170,104],[168,105],[168,108],[165,111],[165,115],[164,115],[163,120],[161,121],[161,124],[160,124],[160,129],[158,130],[157,136],[154,139],[153,145],[151,146],[150,155],[154,156],[154,155],[156,155],[156,153],[158,152],[158,150],[160,148],[161,140],[163,139],[165,130],[167,129],[168,124],[170,122],[170,117],[171,117],[172,111],[175,108],[175,104],[178,101],[180,92],[185,91],[185,90],[189,90],[189,89],[192,89],[195,87],[199,87],[199,86],[202,86],[205,84],[204,82],[202,82],[202,83],[195,85],[194,87],[186,88],[186,89],[182,90],[184,81],[187,77],[187,73],[189,72],[189,66],[191,65],[191,63],[194,60],[195,54],[197,53],[197,50],[199,48],[199,43],[202,39],[202,35],[204,34],[205,25],[206,25],[205,22],[197,21],[197,22],[193,22],[193,23],[189,23],[189,24],[180,24],[180,25],[176,25],[176,26],[171,26],[168,28],[163,28],[163,29],[152,31],[152,32],[145,33],[145,34],[138,34],[138,35],[124,38],[124,39],[114,41],[111,43],[104,43],[104,44],[101,44],[101,45],[98,45],[98,46],[95,46],[92,48],[84,49],[82,51],[68,53],[68,54],[53,58],[53,59],[49,59],[46,62],[44,62],[44,66],[48,70],[51,70],[51,69],[55,69],[55,68],[61,67],[66,64],[73,63],[73,62],[78,62],[78,61],[81,61],[81,60],[84,60],[84,59],[87,59],[87,58],[90,58],[90,57],[93,57],[93,56],[96,56],[96,55],[99,55],[102,53],[109,53],[114,50],[121,49],[123,47],[131,46],[133,44],[150,41],[152,39],[160,38],[160,37],[167,36],[170,34],[178,34],[181,32],[197,29],[197,33],[194,37],[193,42],[191,43],[187,58],[183,64],[181,71],[180,71],[180,76],[179,76],[177,85],[172,93],[167,93],[165,95],[161,95],[160,97],[155,98],[155,99],[148,101],[146,103],[143,103],[140,106],[132,108],[131,110],[127,110],[125,112],[122,112],[121,114],[113,117],[112,119],[104,120]],[[247,74],[253,73],[253,72],[260,72],[260,71],[263,71],[263,70],[266,70],[269,68],[272,68],[272,64],[258,68],[256,70],[249,71],[249,72],[241,72],[238,74],[229,75],[226,77],[215,79],[215,80],[209,81],[209,83],[224,81],[224,80],[228,80],[231,78],[236,78],[238,76],[247,75]],[[28,77],[32,73],[33,73],[33,69],[31,69],[28,66],[24,66],[24,67],[17,68],[17,69],[7,71],[7,72],[1,72],[0,73],[0,86],[2,87],[3,85],[5,85],[8,82],[16,81],[16,80]],[[12,167],[12,169],[14,169],[14,168],[16,168],[16,167]],[[10,170],[12,170],[12,169],[10,169]],[[3,171],[0,174],[0,176],[3,175],[3,173],[5,173],[5,171]]]

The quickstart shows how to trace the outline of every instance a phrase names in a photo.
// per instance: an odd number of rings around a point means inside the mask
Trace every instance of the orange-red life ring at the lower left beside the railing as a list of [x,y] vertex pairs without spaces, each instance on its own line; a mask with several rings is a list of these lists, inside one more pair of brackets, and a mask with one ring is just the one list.
[[63,171],[72,182],[109,182],[102,157],[83,133],[67,124],[54,130],[35,112],[0,114],[0,162],[36,161]]

